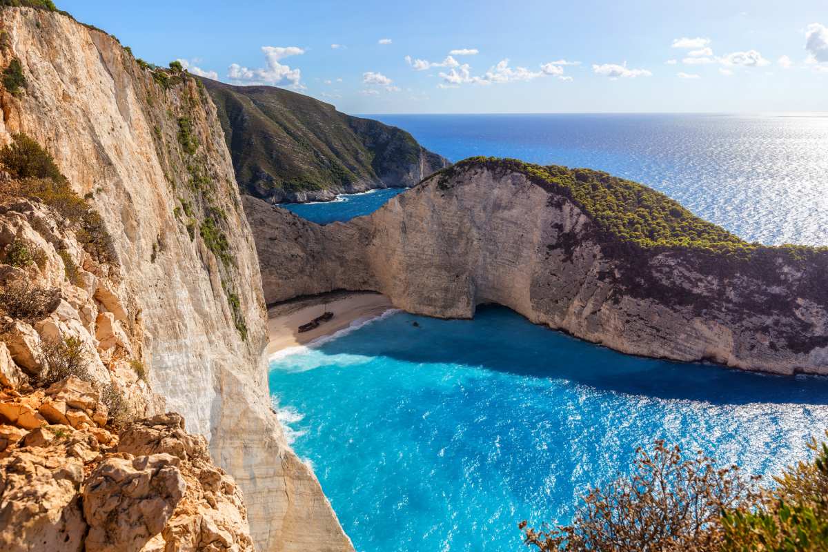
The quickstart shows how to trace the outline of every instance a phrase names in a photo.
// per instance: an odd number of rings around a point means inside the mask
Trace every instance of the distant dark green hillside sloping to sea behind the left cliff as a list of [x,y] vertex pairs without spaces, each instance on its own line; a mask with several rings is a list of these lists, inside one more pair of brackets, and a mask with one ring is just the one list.
[[202,79],[243,193],[270,203],[415,185],[448,165],[411,134],[290,90]]

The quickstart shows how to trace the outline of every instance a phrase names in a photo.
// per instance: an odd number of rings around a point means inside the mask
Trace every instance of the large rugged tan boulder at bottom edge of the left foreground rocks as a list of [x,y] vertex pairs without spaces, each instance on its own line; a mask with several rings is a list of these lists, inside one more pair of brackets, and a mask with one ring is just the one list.
[[100,463],[84,488],[87,552],[137,552],[159,535],[184,496],[179,462],[152,454]]

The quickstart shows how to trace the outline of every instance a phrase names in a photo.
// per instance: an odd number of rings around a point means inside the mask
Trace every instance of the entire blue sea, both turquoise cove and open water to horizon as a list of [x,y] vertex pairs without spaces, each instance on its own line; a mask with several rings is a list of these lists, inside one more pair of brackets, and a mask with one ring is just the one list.
[[[608,170],[749,240],[828,243],[828,118],[375,117],[453,161]],[[302,215],[365,214],[379,193]],[[500,307],[356,325],[272,360],[270,388],[359,552],[527,550],[518,521],[568,521],[653,439],[769,475],[828,428],[828,378],[630,357]]]

